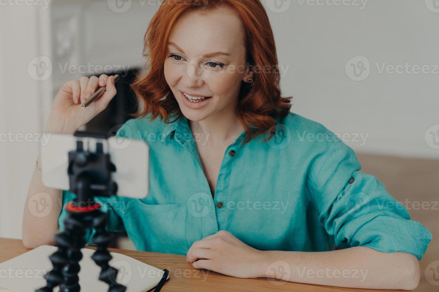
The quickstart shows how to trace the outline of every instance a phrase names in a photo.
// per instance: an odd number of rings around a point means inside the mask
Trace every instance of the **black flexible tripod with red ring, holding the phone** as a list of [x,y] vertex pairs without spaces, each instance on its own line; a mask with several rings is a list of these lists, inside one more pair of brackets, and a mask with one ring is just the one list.
[[109,285],[108,292],[124,292],[126,287],[116,281],[118,270],[108,265],[112,259],[107,250],[111,235],[105,230],[107,214],[101,212],[101,205],[94,202],[95,196],[109,197],[117,193],[117,184],[111,179],[116,170],[110,155],[104,153],[103,144],[96,143],[96,151],[84,150],[83,141],[76,141],[76,151],[68,152],[68,176],[70,190],[76,199],[66,204],[68,218],[64,220],[65,230],[55,236],[58,251],[49,259],[53,270],[44,275],[47,285],[36,292],[53,292],[59,285],[60,292],[79,292],[79,261],[85,246],[84,238],[88,227],[96,230],[92,243],[97,250],[91,257],[101,267],[99,280]]

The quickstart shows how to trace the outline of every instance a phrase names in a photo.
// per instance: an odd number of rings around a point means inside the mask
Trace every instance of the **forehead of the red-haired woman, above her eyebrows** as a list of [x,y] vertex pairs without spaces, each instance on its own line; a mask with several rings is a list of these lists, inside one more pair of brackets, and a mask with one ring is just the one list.
[[214,51],[241,52],[245,49],[243,38],[241,19],[224,7],[204,14],[184,13],[174,24],[169,42],[176,43],[188,55],[201,56]]

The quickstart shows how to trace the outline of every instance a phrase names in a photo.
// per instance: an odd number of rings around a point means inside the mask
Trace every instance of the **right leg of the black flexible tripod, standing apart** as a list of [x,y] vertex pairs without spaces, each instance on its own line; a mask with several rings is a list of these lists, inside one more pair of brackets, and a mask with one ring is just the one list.
[[101,274],[99,280],[108,284],[108,292],[124,292],[126,287],[118,284],[116,281],[118,270],[108,265],[112,259],[111,254],[107,250],[107,246],[111,241],[111,235],[105,230],[107,225],[107,214],[97,211],[98,214],[92,221],[92,227],[96,229],[93,236],[92,243],[97,245],[97,250],[91,257],[94,262],[101,267]]

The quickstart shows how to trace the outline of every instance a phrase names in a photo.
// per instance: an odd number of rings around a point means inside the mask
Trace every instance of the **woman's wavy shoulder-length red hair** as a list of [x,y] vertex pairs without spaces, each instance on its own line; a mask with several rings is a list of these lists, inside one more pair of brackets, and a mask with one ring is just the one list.
[[[171,29],[184,12],[209,12],[224,6],[232,8],[241,18],[247,63],[255,72],[253,83],[242,82],[234,109],[237,120],[244,127],[245,142],[270,130],[276,124],[275,118],[288,115],[291,97],[281,97],[273,31],[259,0],[164,0],[144,36],[143,56],[147,58],[146,64],[149,63],[148,73],[137,75],[131,84],[139,105],[134,117],[151,114],[151,121],[160,116],[169,123],[169,116],[178,119],[182,115],[163,69]],[[267,65],[269,72],[256,72],[255,69],[267,68]]]

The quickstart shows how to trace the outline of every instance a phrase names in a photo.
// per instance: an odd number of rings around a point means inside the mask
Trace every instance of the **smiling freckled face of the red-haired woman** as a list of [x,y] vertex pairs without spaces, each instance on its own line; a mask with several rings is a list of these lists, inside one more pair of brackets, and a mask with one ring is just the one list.
[[164,74],[187,119],[233,112],[241,82],[253,77],[245,55],[244,28],[230,8],[179,18],[169,36]]

